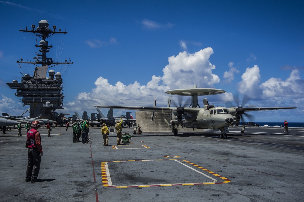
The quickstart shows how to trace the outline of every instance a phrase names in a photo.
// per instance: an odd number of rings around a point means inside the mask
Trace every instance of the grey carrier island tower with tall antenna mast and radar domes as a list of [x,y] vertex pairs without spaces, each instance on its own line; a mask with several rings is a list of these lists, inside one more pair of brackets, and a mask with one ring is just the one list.
[[[36,29],[35,29],[36,28]],[[65,60],[65,62],[54,62],[52,58],[47,58],[48,53],[52,45],[49,45],[47,38],[54,34],[67,34],[62,32],[61,29],[56,30],[56,26],[53,26],[53,30],[49,28],[47,20],[41,20],[39,26],[32,25],[32,29],[20,29],[20,32],[33,33],[36,38],[40,38],[39,44],[35,46],[39,49],[39,53],[35,56],[33,61],[17,60],[16,62],[24,65],[33,65],[35,70],[33,74],[24,74],[19,83],[17,80],[13,80],[12,83],[6,83],[9,88],[16,89],[15,95],[17,97],[23,97],[21,101],[23,106],[29,105],[29,117],[40,117],[44,119],[50,119],[60,122],[63,114],[57,114],[56,109],[63,109],[63,87],[61,73],[55,73],[51,68],[55,65],[72,65],[73,62]],[[38,40],[37,40],[38,42]],[[48,76],[47,76],[48,73]]]

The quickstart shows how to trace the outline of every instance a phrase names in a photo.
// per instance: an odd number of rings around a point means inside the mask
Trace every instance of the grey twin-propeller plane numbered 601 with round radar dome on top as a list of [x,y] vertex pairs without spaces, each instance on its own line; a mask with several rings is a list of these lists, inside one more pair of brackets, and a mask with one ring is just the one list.
[[[239,125],[241,115],[246,111],[260,111],[260,110],[275,110],[275,109],[294,109],[296,107],[215,107],[209,105],[208,100],[203,99],[203,108],[200,108],[197,96],[199,95],[215,95],[225,93],[226,91],[215,88],[193,88],[175,89],[167,91],[171,95],[191,96],[191,104],[189,107],[170,107],[171,99],[169,98],[167,107],[128,107],[128,106],[102,106],[94,105],[98,108],[116,108],[116,109],[129,109],[138,111],[152,111],[153,112],[168,112],[171,113],[170,126],[174,135],[178,134],[175,126],[181,125],[186,128],[220,130],[220,138],[226,138],[226,133],[229,133],[228,126]],[[153,117],[151,117],[152,121]]]

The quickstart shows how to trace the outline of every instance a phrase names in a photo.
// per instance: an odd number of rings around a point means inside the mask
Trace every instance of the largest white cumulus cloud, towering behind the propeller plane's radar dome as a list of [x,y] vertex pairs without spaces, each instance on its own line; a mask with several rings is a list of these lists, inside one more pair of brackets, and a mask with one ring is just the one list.
[[76,110],[81,107],[88,110],[93,109],[94,105],[150,106],[155,96],[158,106],[162,106],[170,97],[165,91],[189,88],[194,84],[197,87],[214,87],[220,79],[212,74],[215,69],[209,61],[212,54],[212,48],[208,47],[193,54],[181,52],[177,56],[171,56],[163,69],[164,74],[153,75],[146,85],[140,85],[137,81],[127,85],[117,81],[112,85],[106,78],[99,77],[91,92],[79,93],[65,108]]

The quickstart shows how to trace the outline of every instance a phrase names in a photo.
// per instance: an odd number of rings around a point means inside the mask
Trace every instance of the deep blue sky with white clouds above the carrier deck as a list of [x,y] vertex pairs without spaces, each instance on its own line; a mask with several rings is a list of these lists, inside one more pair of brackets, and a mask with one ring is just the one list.
[[0,1],[0,112],[28,109],[6,83],[20,82],[16,60],[37,52],[36,37],[19,29],[48,20],[68,34],[48,39],[47,56],[74,62],[53,68],[64,81],[59,113],[151,106],[154,97],[164,106],[165,91],[196,84],[226,91],[200,103],[247,94],[248,107],[298,107],[250,112],[255,122],[304,122],[303,10],[301,1]]

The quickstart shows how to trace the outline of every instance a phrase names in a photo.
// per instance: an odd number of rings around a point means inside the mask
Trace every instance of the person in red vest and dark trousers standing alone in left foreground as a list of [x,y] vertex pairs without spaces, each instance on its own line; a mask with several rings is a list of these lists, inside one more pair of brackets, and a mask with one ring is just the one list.
[[28,148],[27,155],[29,161],[25,181],[41,182],[42,180],[37,178],[40,170],[41,156],[43,155],[41,137],[39,131],[37,131],[40,124],[38,121],[33,121],[31,127],[32,129],[26,135],[25,146]]

